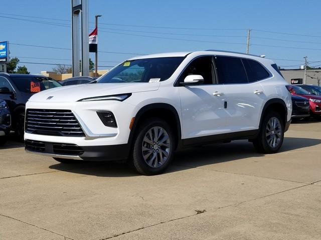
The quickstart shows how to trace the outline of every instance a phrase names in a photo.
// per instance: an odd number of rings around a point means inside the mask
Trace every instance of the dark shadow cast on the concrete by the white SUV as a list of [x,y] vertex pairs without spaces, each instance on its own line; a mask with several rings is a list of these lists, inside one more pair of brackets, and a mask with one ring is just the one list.
[[[313,146],[321,143],[321,139],[285,137],[280,152]],[[247,140],[236,140],[231,143],[210,144],[191,147],[175,153],[174,160],[166,173],[186,170],[203,165],[226,161],[240,160],[248,157],[262,157]],[[137,176],[131,167],[117,162],[78,162],[75,164],[57,163],[49,166],[52,169],[101,177]]]

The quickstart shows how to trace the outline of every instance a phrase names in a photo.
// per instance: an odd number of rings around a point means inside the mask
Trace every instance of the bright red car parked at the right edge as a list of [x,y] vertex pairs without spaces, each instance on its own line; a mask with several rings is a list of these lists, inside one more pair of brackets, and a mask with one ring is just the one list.
[[288,91],[295,96],[303,96],[309,99],[311,116],[321,119],[321,96],[310,94],[302,87],[296,85],[287,85]]

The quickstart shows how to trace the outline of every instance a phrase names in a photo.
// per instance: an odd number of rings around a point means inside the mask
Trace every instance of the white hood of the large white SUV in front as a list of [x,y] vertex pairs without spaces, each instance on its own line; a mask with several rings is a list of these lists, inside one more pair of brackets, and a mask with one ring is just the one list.
[[107,96],[122,93],[155,91],[159,88],[159,84],[159,82],[121,82],[62,86],[40,91],[34,94],[32,97],[30,97],[29,101],[74,102],[83,98],[94,96]]

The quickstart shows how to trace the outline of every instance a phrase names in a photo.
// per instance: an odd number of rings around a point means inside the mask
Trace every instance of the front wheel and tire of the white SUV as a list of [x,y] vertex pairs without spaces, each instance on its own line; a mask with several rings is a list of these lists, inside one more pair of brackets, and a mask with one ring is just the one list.
[[135,134],[132,166],[144,175],[162,173],[173,159],[174,147],[175,136],[170,125],[161,118],[148,118]]

